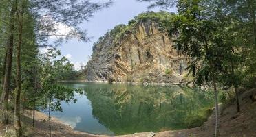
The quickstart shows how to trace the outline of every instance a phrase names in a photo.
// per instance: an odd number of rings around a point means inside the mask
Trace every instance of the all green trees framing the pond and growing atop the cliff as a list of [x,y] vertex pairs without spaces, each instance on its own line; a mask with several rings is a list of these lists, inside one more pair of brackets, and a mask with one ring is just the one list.
[[[143,12],[128,25],[117,25],[99,38],[93,51],[107,36],[118,40],[139,21],[157,20],[160,31],[173,41],[174,49],[186,57],[186,71],[193,77],[193,86],[207,86],[213,91],[209,100],[215,101],[214,136],[219,136],[220,100],[232,95],[238,114],[242,110],[239,89],[256,87],[256,1],[137,2],[161,11]],[[75,95],[82,94],[81,89],[69,88],[59,82],[83,80],[86,72],[86,66],[75,70],[74,64],[61,55],[58,47],[72,38],[88,42],[89,34],[80,25],[114,3],[0,0],[0,121],[1,125],[14,125],[15,134],[10,136],[25,136],[24,127],[34,127],[36,110],[48,113],[49,136],[52,136],[50,112],[61,111],[63,102],[76,103]],[[173,7],[177,12],[169,12]],[[72,29],[61,34],[58,32],[60,24]],[[43,47],[49,47],[47,52],[41,53]],[[250,94],[256,101],[256,90]],[[23,121],[24,110],[34,112],[32,123]]]

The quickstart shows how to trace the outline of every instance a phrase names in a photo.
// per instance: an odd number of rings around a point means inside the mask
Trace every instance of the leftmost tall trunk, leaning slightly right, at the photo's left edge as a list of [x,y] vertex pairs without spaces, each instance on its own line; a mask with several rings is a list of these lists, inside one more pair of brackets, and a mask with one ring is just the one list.
[[9,25],[9,35],[8,42],[6,45],[6,69],[3,78],[3,92],[1,95],[1,113],[3,116],[3,123],[8,123],[8,99],[10,90],[10,77],[12,71],[12,51],[13,51],[13,39],[14,39],[14,29],[15,29],[15,13],[16,13],[16,3],[12,3],[12,9],[10,12],[10,25]]

